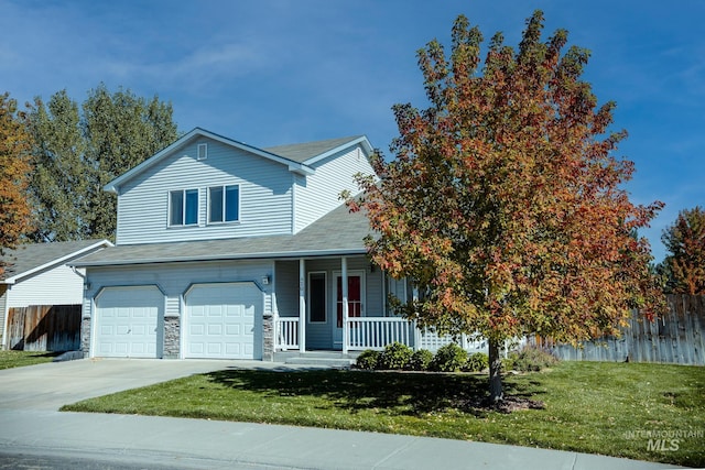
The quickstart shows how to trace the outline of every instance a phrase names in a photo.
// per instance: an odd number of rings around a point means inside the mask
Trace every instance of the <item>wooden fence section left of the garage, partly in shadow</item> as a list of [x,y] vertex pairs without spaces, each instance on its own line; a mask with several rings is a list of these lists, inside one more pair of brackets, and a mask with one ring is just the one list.
[[10,308],[9,349],[74,351],[80,349],[80,305],[32,305]]

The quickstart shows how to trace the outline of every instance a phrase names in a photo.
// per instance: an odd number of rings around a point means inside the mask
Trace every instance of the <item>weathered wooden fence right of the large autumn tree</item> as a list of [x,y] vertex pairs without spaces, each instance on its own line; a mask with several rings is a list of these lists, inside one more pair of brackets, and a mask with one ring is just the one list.
[[649,321],[634,311],[621,337],[600,338],[582,343],[582,348],[554,343],[550,339],[533,341],[568,361],[665,362],[705,365],[705,296],[673,294],[668,296],[669,311]]

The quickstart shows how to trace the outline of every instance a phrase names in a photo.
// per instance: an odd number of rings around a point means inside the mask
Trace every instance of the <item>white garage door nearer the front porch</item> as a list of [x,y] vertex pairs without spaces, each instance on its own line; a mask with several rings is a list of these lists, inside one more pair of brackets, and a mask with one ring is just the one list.
[[262,292],[253,283],[200,284],[186,294],[186,358],[260,359],[254,327]]

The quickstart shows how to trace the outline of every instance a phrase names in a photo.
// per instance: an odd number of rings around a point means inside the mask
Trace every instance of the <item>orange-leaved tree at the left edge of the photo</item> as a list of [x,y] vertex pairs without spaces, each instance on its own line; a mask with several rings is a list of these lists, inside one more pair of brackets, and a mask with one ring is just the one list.
[[17,117],[17,101],[8,94],[0,95],[0,254],[31,230],[29,149],[29,135]]

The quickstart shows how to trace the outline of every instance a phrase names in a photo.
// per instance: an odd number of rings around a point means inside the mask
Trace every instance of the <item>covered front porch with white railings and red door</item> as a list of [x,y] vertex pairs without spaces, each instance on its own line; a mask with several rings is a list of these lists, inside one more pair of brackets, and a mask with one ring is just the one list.
[[[275,357],[335,351],[341,357],[330,359],[348,360],[394,341],[432,352],[454,342],[451,336],[421,330],[414,321],[394,316],[388,296],[411,300],[416,293],[405,280],[390,278],[365,255],[278,261],[274,287]],[[457,342],[470,352],[487,349],[485,340],[464,336]]]

